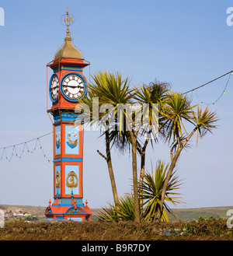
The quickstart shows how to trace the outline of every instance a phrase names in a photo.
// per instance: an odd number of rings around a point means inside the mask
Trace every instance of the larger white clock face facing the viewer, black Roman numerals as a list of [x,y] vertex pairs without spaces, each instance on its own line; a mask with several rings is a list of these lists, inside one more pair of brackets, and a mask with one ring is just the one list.
[[85,93],[85,82],[79,75],[66,75],[61,82],[61,90],[68,100],[78,100]]

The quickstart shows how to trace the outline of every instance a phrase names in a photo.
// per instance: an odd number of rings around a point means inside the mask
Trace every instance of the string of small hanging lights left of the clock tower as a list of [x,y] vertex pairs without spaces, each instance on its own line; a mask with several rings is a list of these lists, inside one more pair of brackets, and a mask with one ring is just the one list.
[[[34,153],[37,150],[37,147],[39,146],[39,148],[40,148],[40,150],[41,150],[41,152],[43,154],[43,157],[47,160],[47,162],[48,163],[53,162],[53,160],[50,160],[47,157],[46,153],[43,150],[43,146],[41,144],[41,141],[40,141],[41,138],[43,138],[43,137],[45,137],[47,135],[50,135],[51,133],[53,133],[53,132],[50,132],[50,133],[47,133],[47,134],[42,135],[40,137],[37,137],[36,139],[31,139],[29,141],[22,142],[22,143],[19,143],[19,144],[16,144],[16,145],[5,146],[4,148],[0,148],[0,150],[2,150],[2,156],[0,158],[0,161],[1,160],[8,160],[9,163],[10,163],[12,161],[13,156],[19,157],[19,160],[21,160],[24,153]],[[33,150],[29,149],[29,145],[28,144],[30,142],[35,142],[35,146],[33,147]],[[22,145],[23,145],[23,149],[22,149],[21,153],[19,153],[19,146],[22,146]],[[17,150],[17,147],[18,147],[18,150]],[[9,154],[7,153],[6,149],[10,149],[10,148],[12,148],[12,153],[9,156]]]

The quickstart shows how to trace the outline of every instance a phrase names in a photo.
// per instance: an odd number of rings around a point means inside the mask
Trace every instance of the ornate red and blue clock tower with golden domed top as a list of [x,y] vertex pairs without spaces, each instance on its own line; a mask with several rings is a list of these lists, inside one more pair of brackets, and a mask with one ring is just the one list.
[[54,202],[49,202],[45,216],[89,221],[91,209],[82,202],[83,129],[82,124],[75,126],[75,107],[87,91],[82,71],[89,63],[72,43],[72,19],[67,11],[64,44],[47,64],[54,72],[48,88],[52,107],[47,110],[54,117]]

